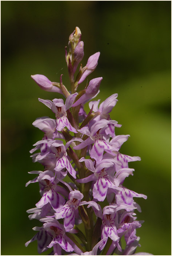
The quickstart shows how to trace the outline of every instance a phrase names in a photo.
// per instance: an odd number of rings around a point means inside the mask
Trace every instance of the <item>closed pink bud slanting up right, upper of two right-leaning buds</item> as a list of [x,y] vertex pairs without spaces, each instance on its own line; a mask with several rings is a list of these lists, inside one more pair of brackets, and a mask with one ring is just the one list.
[[93,54],[89,57],[89,59],[87,61],[87,65],[85,66],[87,69],[84,71],[78,84],[82,83],[85,80],[85,78],[96,69],[98,60],[99,60],[99,56],[100,56],[100,52],[96,52],[95,54]]

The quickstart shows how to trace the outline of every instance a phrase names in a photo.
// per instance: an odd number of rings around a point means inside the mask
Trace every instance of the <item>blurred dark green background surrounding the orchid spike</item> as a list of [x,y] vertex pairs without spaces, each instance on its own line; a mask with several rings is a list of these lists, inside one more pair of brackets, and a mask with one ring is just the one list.
[[53,117],[38,97],[61,96],[30,76],[58,82],[63,73],[68,87],[64,47],[76,26],[83,65],[101,52],[88,77],[103,76],[97,99],[119,95],[111,118],[117,135],[131,135],[121,152],[142,159],[124,184],[148,196],[136,200],[145,220],[137,252],[171,255],[171,1],[1,1],[1,255],[38,254],[36,242],[24,246],[40,225],[26,213],[40,199],[38,184],[25,188],[28,172],[43,170],[29,158],[43,137],[32,122]]

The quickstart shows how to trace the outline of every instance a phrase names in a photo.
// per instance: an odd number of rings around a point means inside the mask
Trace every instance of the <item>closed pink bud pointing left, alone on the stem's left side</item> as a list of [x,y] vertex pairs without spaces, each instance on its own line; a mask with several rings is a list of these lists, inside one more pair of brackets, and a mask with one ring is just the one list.
[[54,86],[52,82],[44,75],[32,75],[32,79],[39,85],[41,89],[47,92],[62,93],[61,89]]

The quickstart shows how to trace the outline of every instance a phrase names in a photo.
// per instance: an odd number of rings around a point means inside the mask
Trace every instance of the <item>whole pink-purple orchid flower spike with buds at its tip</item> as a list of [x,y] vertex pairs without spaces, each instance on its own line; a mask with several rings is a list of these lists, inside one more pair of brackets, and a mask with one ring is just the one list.
[[[69,252],[75,252],[70,255],[150,255],[135,253],[140,239],[136,228],[143,221],[136,220],[134,210],[141,209],[133,197],[147,196],[123,186],[125,178],[134,171],[128,168],[128,162],[140,161],[140,157],[119,152],[129,135],[116,136],[115,127],[121,125],[109,116],[117,94],[100,106],[100,100],[90,101],[99,93],[102,77],[92,79],[84,90],[77,92],[79,84],[97,67],[100,52],[90,56],[85,67],[80,65],[75,76],[84,56],[78,27],[69,36],[68,46],[65,58],[71,92],[63,85],[62,75],[60,83],[53,83],[43,75],[32,76],[41,89],[61,93],[66,99],[65,103],[63,99],[39,99],[55,113],[55,119],[44,116],[33,122],[44,136],[30,152],[33,162],[41,163],[44,171],[29,172],[38,176],[26,186],[38,182],[41,199],[36,208],[27,212],[31,213],[29,219],[37,219],[43,225],[33,228],[38,232],[25,245],[37,240],[38,252],[53,248],[51,255]],[[84,104],[88,101],[87,114]],[[40,152],[34,153],[37,150]],[[71,182],[66,181],[66,176]],[[81,223],[85,232],[80,228]]]

